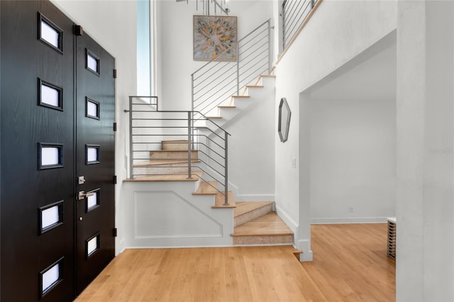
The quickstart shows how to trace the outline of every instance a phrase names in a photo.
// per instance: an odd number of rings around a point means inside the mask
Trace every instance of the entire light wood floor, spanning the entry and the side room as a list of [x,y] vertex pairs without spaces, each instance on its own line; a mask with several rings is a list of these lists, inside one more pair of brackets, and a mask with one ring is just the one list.
[[313,225],[314,262],[289,246],[126,250],[76,301],[394,301],[386,225]]

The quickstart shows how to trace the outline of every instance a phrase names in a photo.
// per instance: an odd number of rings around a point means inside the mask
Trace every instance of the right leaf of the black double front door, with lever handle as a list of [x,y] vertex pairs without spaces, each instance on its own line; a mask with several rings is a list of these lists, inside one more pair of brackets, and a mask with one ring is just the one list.
[[[114,57],[77,37],[77,293],[115,255]],[[82,180],[82,177],[84,180]]]

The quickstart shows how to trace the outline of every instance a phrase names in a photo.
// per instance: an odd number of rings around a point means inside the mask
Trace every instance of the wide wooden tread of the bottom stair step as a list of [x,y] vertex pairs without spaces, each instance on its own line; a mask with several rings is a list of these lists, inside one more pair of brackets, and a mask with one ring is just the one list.
[[261,216],[248,223],[234,228],[236,236],[263,236],[263,235],[293,235],[292,230],[282,221],[276,212]]

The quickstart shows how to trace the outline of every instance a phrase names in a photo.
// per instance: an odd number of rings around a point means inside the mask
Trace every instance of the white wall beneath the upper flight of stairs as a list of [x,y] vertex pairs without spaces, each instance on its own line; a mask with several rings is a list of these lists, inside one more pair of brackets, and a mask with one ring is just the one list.
[[236,201],[275,200],[275,79],[262,84],[249,89],[250,99],[236,101],[250,105],[223,126],[231,134],[228,179]]

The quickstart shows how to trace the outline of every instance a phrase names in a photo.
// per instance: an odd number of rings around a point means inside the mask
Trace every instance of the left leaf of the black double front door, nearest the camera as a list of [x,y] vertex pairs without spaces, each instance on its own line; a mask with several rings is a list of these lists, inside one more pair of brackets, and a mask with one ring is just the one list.
[[[0,5],[1,301],[70,301],[73,23],[45,1]],[[40,21],[60,37],[41,38]]]

